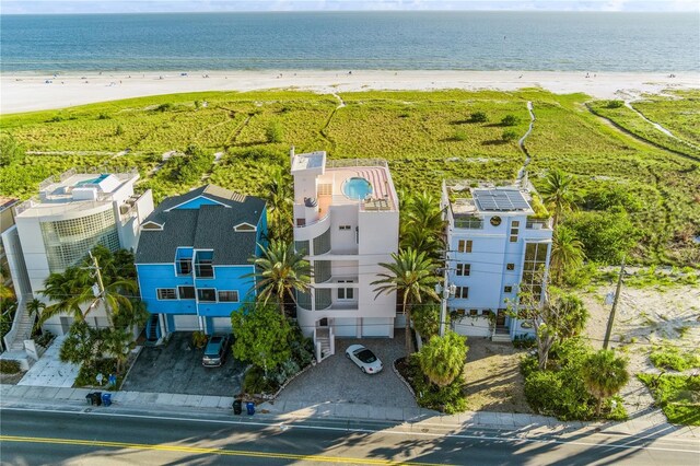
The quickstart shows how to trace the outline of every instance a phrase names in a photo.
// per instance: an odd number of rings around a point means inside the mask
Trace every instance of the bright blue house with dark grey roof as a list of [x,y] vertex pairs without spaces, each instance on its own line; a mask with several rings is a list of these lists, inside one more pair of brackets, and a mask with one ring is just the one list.
[[168,197],[141,223],[136,267],[150,340],[172,331],[231,331],[250,292],[248,261],[267,236],[265,200],[213,185]]

